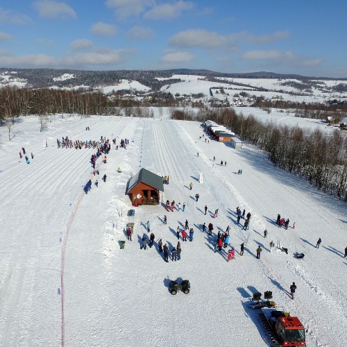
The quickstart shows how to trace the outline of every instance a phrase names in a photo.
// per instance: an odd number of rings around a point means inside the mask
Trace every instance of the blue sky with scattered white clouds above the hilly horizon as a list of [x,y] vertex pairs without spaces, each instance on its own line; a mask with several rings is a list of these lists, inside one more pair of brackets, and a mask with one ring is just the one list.
[[0,67],[347,77],[346,0],[0,1]]

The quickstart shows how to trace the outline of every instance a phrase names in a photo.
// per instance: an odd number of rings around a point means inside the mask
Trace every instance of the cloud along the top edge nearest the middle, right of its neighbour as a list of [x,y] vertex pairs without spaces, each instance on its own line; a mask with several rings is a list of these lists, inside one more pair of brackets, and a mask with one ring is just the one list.
[[177,1],[155,5],[144,14],[146,19],[172,19],[178,17],[185,10],[192,10],[194,4],[190,1]]

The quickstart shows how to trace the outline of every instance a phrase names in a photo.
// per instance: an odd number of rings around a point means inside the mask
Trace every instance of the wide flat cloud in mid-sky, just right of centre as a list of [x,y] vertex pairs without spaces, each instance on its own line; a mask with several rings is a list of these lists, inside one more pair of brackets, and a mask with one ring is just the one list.
[[180,31],[169,38],[169,44],[183,48],[205,48],[213,49],[215,47],[226,46],[230,43],[232,37],[219,35],[205,29],[189,29]]

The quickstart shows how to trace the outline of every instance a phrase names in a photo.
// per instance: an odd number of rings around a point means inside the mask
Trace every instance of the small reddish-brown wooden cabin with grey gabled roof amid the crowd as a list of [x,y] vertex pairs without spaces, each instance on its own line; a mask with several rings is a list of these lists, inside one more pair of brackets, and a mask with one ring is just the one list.
[[164,192],[162,177],[147,169],[142,168],[129,180],[127,194],[133,205],[159,205],[160,192]]

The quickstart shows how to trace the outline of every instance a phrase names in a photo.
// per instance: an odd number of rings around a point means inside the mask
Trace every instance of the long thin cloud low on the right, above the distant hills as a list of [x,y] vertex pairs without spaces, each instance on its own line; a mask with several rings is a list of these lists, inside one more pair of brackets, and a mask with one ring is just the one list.
[[269,63],[276,65],[287,65],[293,67],[316,67],[321,65],[322,59],[311,59],[305,56],[294,54],[292,51],[248,51],[243,56],[246,60],[266,60]]

